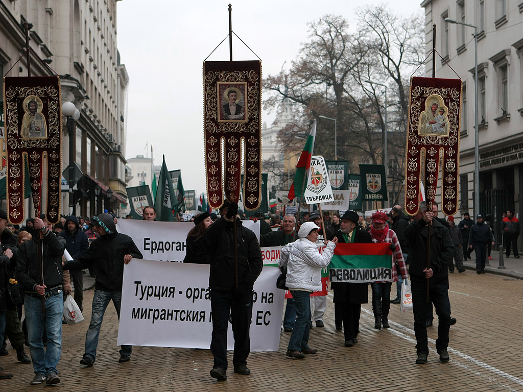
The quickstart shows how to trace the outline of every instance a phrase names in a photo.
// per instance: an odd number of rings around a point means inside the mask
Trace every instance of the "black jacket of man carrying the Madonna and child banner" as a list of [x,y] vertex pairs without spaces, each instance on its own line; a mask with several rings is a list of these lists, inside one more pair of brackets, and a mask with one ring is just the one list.
[[[408,273],[411,280],[422,280],[425,278],[423,270],[427,268],[427,236],[428,225],[422,219],[412,222],[405,228],[405,237],[411,244],[411,260]],[[448,264],[454,257],[454,245],[450,238],[449,229],[433,220],[430,228],[430,268],[434,275],[429,279],[430,284],[449,284]]]

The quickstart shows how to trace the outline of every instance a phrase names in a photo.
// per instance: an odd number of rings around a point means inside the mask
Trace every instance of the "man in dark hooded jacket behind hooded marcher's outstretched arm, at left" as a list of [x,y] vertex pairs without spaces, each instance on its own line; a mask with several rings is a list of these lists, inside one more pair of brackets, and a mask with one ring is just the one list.
[[[65,220],[65,229],[60,233],[60,236],[65,238],[65,249],[67,249],[73,260],[78,260],[84,256],[89,249],[89,238],[87,238],[87,234],[85,234],[80,227],[78,218],[74,215],[67,217]],[[71,280],[74,284],[74,302],[76,302],[83,312],[84,271],[71,270],[70,272]]]

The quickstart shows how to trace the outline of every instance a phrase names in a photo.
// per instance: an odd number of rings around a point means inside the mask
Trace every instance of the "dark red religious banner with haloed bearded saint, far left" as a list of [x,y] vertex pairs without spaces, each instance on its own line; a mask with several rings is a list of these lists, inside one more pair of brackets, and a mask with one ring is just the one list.
[[[47,220],[50,223],[60,220],[61,107],[58,76],[4,77],[7,215],[13,224],[24,221],[24,156],[29,162],[35,214],[41,212],[43,189],[47,195]],[[42,184],[44,178],[46,184]]]

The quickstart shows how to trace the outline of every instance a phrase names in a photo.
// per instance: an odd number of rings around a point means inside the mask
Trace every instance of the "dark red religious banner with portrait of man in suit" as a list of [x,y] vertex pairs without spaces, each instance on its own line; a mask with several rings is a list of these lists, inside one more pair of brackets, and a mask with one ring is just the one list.
[[240,199],[244,163],[247,210],[261,201],[261,62],[203,63],[207,195],[213,209]]

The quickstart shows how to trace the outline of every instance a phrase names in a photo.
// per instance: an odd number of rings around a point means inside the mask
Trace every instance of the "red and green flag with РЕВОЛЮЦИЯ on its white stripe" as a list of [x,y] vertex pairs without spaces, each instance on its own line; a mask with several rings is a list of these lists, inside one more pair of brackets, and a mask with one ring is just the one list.
[[389,243],[338,244],[329,264],[331,282],[392,282]]

